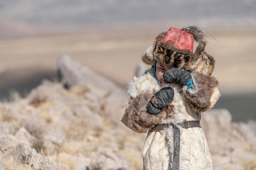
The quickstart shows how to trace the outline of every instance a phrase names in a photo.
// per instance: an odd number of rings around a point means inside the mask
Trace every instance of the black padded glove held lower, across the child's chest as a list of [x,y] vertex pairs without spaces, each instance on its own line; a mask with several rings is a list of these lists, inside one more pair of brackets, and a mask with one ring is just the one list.
[[157,91],[147,105],[150,113],[158,115],[163,107],[173,101],[174,90],[171,87],[163,87]]

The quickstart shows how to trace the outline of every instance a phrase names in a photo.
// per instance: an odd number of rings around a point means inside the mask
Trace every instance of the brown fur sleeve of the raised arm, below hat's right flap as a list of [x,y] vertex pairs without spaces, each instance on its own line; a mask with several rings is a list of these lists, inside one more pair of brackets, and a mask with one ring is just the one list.
[[213,76],[198,72],[192,72],[191,75],[196,88],[194,92],[186,90],[187,102],[194,111],[205,112],[213,107],[220,97],[218,81]]

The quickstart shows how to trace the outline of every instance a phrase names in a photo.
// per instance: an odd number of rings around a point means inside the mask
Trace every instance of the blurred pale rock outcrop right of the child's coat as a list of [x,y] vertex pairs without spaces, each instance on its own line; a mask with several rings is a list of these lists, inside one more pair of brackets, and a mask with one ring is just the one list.
[[202,114],[215,170],[256,170],[256,121],[232,122],[227,109],[212,109]]

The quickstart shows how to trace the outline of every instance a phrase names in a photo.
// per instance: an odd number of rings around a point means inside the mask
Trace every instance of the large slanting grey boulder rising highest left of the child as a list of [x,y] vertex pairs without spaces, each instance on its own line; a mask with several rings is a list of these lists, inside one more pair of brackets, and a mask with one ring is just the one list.
[[104,109],[112,120],[119,124],[120,117],[116,116],[118,112],[124,111],[128,103],[128,94],[119,85],[112,80],[103,77],[88,67],[78,62],[74,62],[69,56],[63,55],[57,61],[58,77],[66,87],[79,86],[90,92],[86,94],[88,99],[98,101],[98,105]]

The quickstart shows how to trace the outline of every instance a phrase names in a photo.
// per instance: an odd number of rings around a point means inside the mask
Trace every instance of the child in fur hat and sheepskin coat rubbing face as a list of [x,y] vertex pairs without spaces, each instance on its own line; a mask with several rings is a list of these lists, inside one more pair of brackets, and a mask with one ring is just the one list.
[[220,93],[211,76],[214,59],[204,51],[205,33],[196,26],[170,28],[142,55],[152,68],[130,83],[121,121],[135,132],[148,130],[144,170],[213,169],[200,119]]

